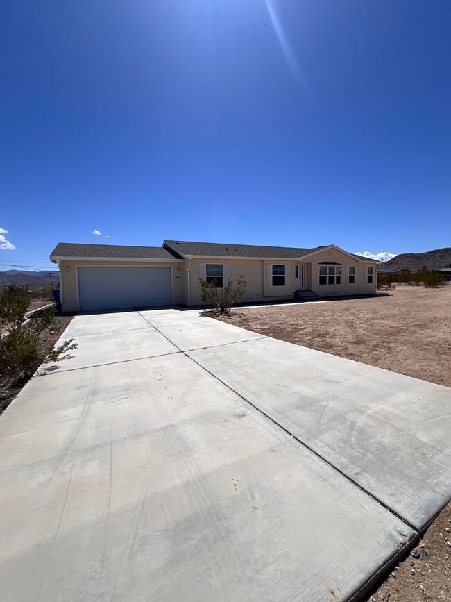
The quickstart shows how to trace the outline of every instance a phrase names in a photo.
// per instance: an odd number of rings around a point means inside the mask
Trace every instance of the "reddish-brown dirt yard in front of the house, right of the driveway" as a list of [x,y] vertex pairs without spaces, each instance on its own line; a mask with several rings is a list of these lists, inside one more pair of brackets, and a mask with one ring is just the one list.
[[282,341],[451,387],[451,285],[391,296],[237,308],[225,321]]

